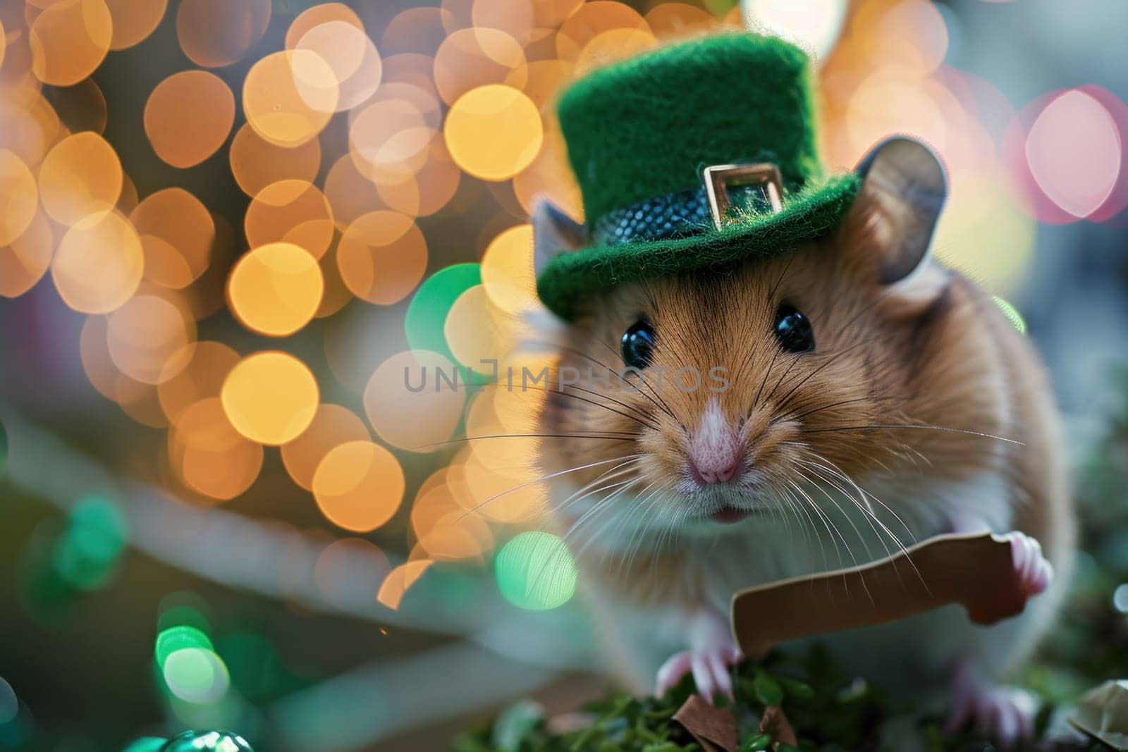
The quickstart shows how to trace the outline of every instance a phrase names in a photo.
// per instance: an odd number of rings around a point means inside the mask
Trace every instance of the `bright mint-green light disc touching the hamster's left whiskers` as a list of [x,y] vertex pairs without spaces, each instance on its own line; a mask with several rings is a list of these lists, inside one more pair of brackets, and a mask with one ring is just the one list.
[[572,552],[559,536],[547,532],[522,532],[505,543],[494,561],[494,574],[501,594],[519,609],[555,609],[575,592]]

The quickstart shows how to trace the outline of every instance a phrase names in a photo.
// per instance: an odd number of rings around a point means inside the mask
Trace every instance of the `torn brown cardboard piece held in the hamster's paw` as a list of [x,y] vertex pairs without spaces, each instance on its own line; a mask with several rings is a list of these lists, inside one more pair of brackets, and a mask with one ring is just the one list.
[[795,577],[737,593],[732,634],[744,655],[841,629],[869,627],[962,603],[989,625],[1026,603],[1011,540],[973,533],[937,536],[871,564]]

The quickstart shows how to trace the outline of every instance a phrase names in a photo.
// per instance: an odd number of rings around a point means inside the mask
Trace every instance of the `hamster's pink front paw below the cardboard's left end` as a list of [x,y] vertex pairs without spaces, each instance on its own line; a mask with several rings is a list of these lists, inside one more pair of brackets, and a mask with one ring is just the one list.
[[732,699],[732,676],[729,669],[743,660],[740,647],[732,639],[729,625],[715,614],[699,614],[689,632],[690,648],[673,654],[658,670],[654,693],[661,697],[687,673],[693,673],[697,693],[713,704],[713,696],[721,692]]

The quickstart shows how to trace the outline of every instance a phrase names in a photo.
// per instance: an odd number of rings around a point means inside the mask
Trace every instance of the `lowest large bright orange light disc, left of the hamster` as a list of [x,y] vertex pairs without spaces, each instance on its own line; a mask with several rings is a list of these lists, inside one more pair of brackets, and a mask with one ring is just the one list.
[[329,450],[314,472],[314,498],[325,517],[344,530],[369,532],[391,519],[404,496],[396,458],[370,441]]

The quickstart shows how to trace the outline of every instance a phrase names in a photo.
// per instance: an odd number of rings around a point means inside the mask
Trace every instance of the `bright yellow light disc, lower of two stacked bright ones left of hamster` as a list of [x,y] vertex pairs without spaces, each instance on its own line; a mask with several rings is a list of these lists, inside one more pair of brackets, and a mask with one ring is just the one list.
[[236,431],[262,444],[284,444],[309,427],[319,392],[309,366],[263,352],[241,360],[223,381],[223,412]]

